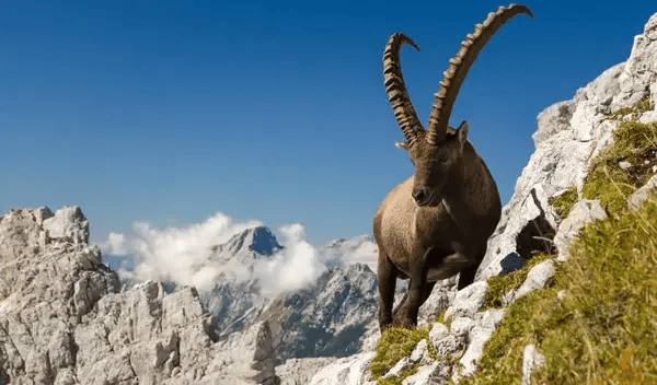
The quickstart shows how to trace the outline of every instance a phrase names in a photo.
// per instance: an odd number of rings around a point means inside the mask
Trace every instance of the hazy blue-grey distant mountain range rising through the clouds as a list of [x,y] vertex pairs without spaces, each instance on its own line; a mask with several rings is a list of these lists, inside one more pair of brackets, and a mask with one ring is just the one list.
[[[214,247],[216,258],[238,259],[252,267],[283,249],[272,231],[258,226],[233,235]],[[353,354],[360,348],[366,326],[376,319],[377,278],[368,265],[376,255],[371,235],[327,243],[319,249],[326,270],[307,288],[269,299],[257,279],[239,281],[229,275],[200,299],[219,327],[220,337],[268,320],[277,358]],[[369,259],[368,259],[369,258]]]

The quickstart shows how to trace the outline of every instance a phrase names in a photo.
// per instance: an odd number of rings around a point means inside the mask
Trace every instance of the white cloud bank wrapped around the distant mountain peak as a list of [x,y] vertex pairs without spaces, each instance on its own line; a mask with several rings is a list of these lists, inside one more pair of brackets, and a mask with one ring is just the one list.
[[328,253],[306,241],[301,224],[278,229],[284,248],[273,256],[243,264],[239,258],[224,260],[214,255],[214,246],[258,225],[260,221],[233,222],[220,212],[184,228],[158,229],[136,222],[132,235],[111,233],[100,246],[105,260],[124,281],[166,280],[201,291],[210,290],[221,275],[238,281],[257,278],[262,294],[276,295],[315,281],[326,266],[359,261],[376,269],[376,245],[366,237],[347,240]]

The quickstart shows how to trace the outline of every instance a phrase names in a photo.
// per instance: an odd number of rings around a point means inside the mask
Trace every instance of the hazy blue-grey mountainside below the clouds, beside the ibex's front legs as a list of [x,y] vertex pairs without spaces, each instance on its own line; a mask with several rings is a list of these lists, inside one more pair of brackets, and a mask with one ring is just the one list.
[[272,325],[279,359],[357,353],[377,315],[377,277],[367,265],[332,268],[310,288],[284,294],[256,319]]

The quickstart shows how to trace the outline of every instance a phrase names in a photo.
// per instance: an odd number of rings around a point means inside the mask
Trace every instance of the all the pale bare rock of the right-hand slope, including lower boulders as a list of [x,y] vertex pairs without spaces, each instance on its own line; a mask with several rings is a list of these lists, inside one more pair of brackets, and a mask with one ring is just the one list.
[[[645,25],[644,33],[634,39],[627,61],[616,65],[596,80],[579,89],[575,96],[545,108],[538,116],[538,129],[533,133],[535,151],[521,176],[509,203],[504,208],[502,220],[488,241],[488,250],[477,272],[476,280],[458,293],[453,289],[435,288],[427,302],[446,303],[446,317],[451,327],[441,323],[431,326],[429,340],[439,354],[457,354],[458,361],[434,360],[426,343],[418,343],[410,357],[402,359],[387,375],[419,364],[417,373],[406,377],[403,384],[443,384],[476,371],[485,342],[505,316],[505,308],[481,312],[484,304],[486,279],[523,266],[535,252],[558,253],[557,260],[566,261],[566,245],[587,222],[603,218],[604,210],[597,201],[579,201],[568,218],[562,221],[550,203],[572,186],[581,190],[588,174],[590,160],[606,148],[618,120],[606,115],[624,107],[632,107],[650,96],[652,110],[636,113],[639,121],[657,120],[657,14]],[[652,179],[654,180],[654,179]],[[654,182],[649,182],[655,188]],[[631,198],[631,205],[641,189]],[[508,305],[528,292],[541,288],[554,273],[553,259],[540,262],[530,270],[525,283],[505,295]],[[453,299],[453,300],[452,300]],[[312,376],[311,384],[372,384],[368,366],[373,352],[341,359]],[[454,357],[454,355],[452,355]],[[529,345],[525,349],[523,384],[535,364],[543,359]],[[281,373],[285,366],[278,368]],[[291,383],[291,382],[290,382]]]

